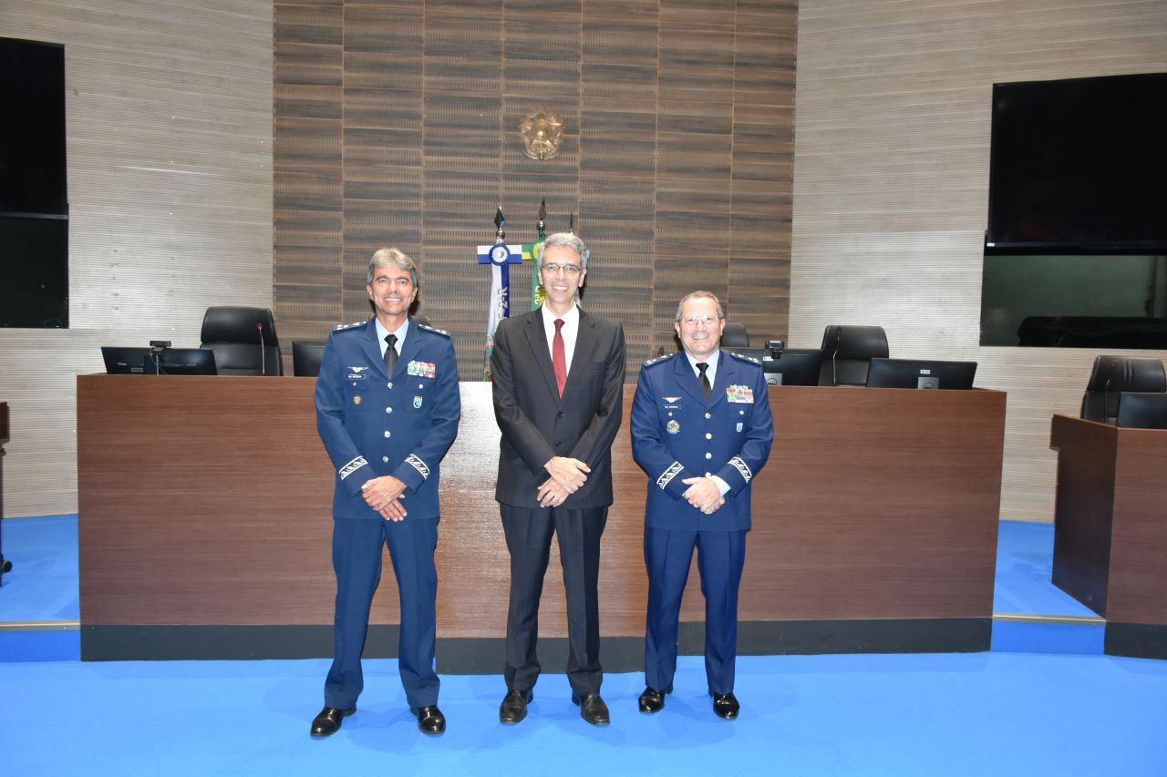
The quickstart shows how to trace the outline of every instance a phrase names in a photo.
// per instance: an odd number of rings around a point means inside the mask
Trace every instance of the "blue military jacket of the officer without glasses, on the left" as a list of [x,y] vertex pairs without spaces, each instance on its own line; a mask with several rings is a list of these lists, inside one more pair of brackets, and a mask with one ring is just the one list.
[[361,487],[392,475],[407,487],[406,520],[438,518],[439,462],[461,412],[448,334],[411,318],[387,376],[373,318],[333,330],[316,379],[316,428],[336,467],[333,514],[382,520]]

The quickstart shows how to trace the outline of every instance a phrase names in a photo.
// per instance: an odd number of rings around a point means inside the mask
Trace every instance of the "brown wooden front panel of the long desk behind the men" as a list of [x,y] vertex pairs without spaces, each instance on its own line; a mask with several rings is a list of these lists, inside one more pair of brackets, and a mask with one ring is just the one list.
[[[333,469],[312,378],[78,377],[84,624],[328,624]],[[626,388],[627,406],[634,387]],[[490,386],[462,385],[442,466],[438,629],[501,637],[508,554],[494,502]],[[782,387],[755,480],[741,618],[986,617],[1005,396]],[[647,477],[613,450],[601,623],[643,634]],[[552,552],[541,631],[564,636]],[[683,618],[701,620],[696,579]],[[373,623],[396,623],[386,561]]]

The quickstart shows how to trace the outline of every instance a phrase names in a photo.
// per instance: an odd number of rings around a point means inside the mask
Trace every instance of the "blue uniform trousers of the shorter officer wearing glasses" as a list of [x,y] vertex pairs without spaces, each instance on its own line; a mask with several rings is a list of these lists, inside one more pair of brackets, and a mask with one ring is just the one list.
[[697,548],[705,596],[705,677],[710,693],[731,693],[738,656],[738,589],[746,567],[746,532],[644,527],[649,604],[644,628],[644,680],[672,691],[677,672],[680,601]]

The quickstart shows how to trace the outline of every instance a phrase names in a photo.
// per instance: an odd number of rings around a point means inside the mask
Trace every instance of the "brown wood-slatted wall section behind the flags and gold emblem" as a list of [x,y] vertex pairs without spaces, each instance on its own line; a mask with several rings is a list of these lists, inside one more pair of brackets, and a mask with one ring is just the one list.
[[[275,4],[274,301],[280,337],[369,316],[364,270],[396,245],[421,313],[482,377],[490,271],[474,249],[576,232],[584,304],[619,318],[629,380],[706,288],[756,340],[789,309],[797,4],[442,0]],[[564,119],[559,155],[523,117]],[[529,262],[512,313],[530,309]]]

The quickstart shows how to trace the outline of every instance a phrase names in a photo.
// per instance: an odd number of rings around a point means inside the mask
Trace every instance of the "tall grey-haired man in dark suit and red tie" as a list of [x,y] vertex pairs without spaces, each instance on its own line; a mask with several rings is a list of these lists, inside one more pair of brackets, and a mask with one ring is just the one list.
[[580,715],[609,722],[600,696],[600,536],[612,504],[612,441],[623,412],[624,332],[575,302],[589,252],[569,232],[550,236],[536,260],[541,308],[504,320],[490,368],[502,430],[498,481],[511,559],[503,723],[526,716],[539,677],[539,595],[551,536],[559,537],[567,594],[567,679]]

